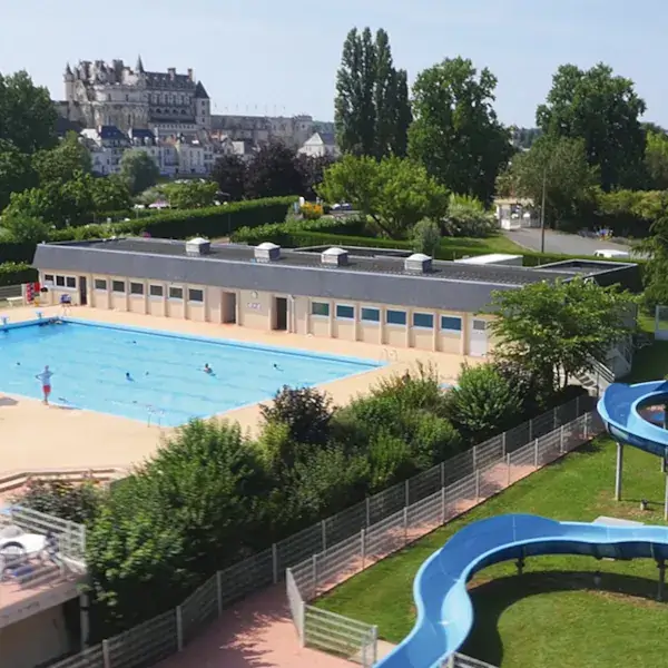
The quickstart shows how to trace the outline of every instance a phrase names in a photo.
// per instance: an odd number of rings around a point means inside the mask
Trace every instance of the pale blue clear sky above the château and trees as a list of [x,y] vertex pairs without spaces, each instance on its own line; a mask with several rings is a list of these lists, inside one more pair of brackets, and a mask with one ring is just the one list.
[[505,124],[534,125],[559,65],[599,61],[636,82],[646,120],[668,126],[668,2],[661,0],[7,0],[0,72],[26,69],[53,99],[66,63],[122,59],[195,70],[214,114],[333,120],[347,31],[384,28],[412,81],[463,56],[498,78]]

